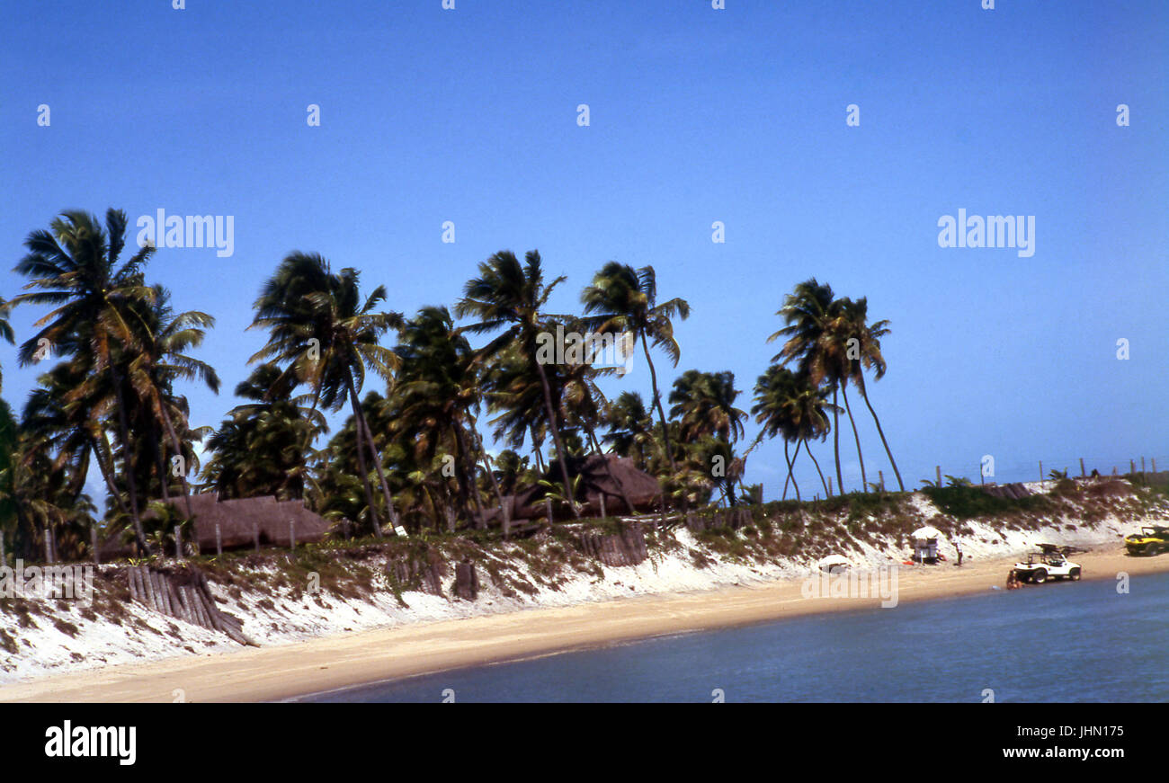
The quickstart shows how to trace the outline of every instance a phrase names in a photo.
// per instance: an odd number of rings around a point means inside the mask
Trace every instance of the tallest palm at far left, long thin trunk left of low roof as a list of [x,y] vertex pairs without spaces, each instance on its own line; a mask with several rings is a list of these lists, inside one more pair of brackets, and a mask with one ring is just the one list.
[[69,210],[55,219],[48,230],[28,235],[28,249],[15,271],[30,278],[12,305],[50,305],[51,312],[37,320],[39,331],[25,341],[18,354],[21,366],[40,361],[43,348],[71,342],[91,354],[94,373],[109,374],[118,414],[118,434],[123,445],[123,476],[129,488],[130,515],[138,545],[147,553],[138,514],[138,490],[134,480],[125,376],[122,363],[126,355],[141,349],[140,331],[134,313],[139,303],[152,303],[154,291],[145,285],[141,268],[154,248],[140,248],[127,261],[119,262],[125,247],[126,215],[109,209],[105,226],[97,217]]

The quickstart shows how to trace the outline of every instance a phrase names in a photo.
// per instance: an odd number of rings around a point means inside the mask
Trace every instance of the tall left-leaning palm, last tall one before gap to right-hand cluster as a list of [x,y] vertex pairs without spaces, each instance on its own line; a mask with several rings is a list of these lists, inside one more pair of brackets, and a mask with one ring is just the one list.
[[666,428],[665,410],[662,408],[662,395],[658,393],[657,370],[650,355],[650,342],[655,348],[662,348],[675,367],[682,356],[682,348],[673,337],[673,319],[685,320],[690,317],[690,304],[685,299],[657,300],[657,275],[652,266],[635,270],[629,264],[615,261],[607,263],[593,277],[593,284],[581,292],[584,312],[590,313],[589,326],[595,332],[630,332],[634,339],[641,340],[645,352],[645,361],[650,367],[650,384],[653,393],[653,407],[657,408],[662,423],[662,442],[671,472],[677,470],[673,451],[670,446],[670,434]]

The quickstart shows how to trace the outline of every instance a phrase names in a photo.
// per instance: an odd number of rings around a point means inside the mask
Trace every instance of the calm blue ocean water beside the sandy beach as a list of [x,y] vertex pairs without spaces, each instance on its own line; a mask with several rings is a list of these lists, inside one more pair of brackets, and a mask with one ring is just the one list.
[[657,637],[302,701],[1169,701],[1169,574]]

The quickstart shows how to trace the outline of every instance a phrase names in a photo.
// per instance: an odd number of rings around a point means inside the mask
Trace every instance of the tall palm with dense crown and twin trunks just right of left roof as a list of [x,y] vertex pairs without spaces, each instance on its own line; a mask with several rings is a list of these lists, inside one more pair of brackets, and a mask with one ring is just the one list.
[[357,425],[358,458],[371,524],[374,535],[380,536],[381,526],[365,469],[366,449],[381,481],[392,522],[396,522],[396,514],[381,456],[358,393],[367,370],[373,370],[387,383],[392,380],[397,356],[379,340],[388,330],[401,326],[402,317],[375,310],[386,299],[385,286],[379,285],[362,302],[359,277],[358,270],[352,268],[333,273],[328,262],[318,254],[293,251],[286,256],[264,283],[254,305],[256,316],[249,328],[268,328],[269,339],[249,362],[286,363],[284,373],[312,389],[313,408],[319,403],[337,410],[348,397]]

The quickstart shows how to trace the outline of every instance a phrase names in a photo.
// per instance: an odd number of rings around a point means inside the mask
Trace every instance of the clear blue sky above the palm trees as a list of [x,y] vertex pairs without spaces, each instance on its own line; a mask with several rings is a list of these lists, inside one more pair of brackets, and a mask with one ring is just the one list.
[[[219,319],[200,355],[224,392],[182,389],[196,425],[236,404],[263,339],[243,331],[251,303],[293,249],[360,268],[407,313],[452,304],[505,248],[568,276],[558,312],[606,261],[652,264],[662,296],[693,307],[678,369],[658,361],[666,384],[731,369],[743,408],[783,295],[816,276],[892,321],[870,389],[907,484],[938,463],[975,477],[985,453],[1001,480],[1035,478],[1038,459],[1169,465],[1165,4],[710,5],[13,4],[5,269],[64,208],[233,215],[233,257],[164,249],[150,266],[177,307]],[[1035,255],[940,248],[938,220],[960,208],[1035,215]],[[8,298],[22,283],[0,272]],[[15,313],[19,339],[33,318]],[[19,409],[36,373],[8,345],[0,362]],[[648,392],[644,362],[618,388]],[[748,480],[777,497],[781,464],[763,446]],[[810,492],[810,463],[800,476]]]

